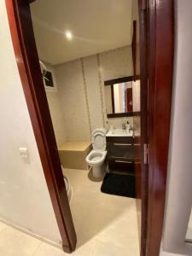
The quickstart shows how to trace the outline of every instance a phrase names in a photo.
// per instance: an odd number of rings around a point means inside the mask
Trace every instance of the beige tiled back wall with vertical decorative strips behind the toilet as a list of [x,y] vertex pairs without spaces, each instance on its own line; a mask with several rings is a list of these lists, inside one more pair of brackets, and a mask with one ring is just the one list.
[[[56,137],[61,137],[63,129],[63,139],[67,141],[90,140],[90,131],[101,126],[120,127],[122,122],[127,120],[132,126],[132,118],[107,119],[104,93],[105,80],[131,74],[130,46],[55,66],[55,79],[60,91],[63,113],[63,122],[60,122],[62,117],[56,113],[59,108],[50,107],[51,115],[57,117],[56,121],[53,121],[55,133],[58,133]],[[55,104],[53,100],[49,102]]]

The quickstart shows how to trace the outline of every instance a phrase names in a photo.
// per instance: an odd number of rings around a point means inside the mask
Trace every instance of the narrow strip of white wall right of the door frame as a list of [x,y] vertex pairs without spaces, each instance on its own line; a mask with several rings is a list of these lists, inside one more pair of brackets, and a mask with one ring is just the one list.
[[[184,243],[192,206],[192,1],[177,0],[172,129],[162,252],[192,255]],[[167,254],[168,255],[168,254]],[[173,255],[173,254],[172,254]]]

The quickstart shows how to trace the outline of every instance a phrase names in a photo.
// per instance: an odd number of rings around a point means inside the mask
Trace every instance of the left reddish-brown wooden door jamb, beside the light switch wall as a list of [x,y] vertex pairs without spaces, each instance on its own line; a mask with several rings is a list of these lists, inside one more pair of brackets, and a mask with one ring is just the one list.
[[62,247],[65,252],[71,253],[76,246],[76,234],[39,67],[29,3],[26,0],[6,0],[6,7],[20,79],[61,233]]

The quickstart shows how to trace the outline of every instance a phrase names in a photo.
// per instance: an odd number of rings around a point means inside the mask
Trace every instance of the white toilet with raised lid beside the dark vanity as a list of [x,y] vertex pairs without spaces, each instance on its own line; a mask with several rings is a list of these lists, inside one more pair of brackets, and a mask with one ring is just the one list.
[[105,173],[106,151],[106,130],[96,129],[92,132],[93,150],[86,157],[87,164],[92,168],[93,177],[102,177]]

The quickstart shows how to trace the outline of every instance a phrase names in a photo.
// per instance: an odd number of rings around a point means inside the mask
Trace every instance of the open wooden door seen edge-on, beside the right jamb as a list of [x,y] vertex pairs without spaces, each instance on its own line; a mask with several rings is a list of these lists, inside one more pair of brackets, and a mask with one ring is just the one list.
[[[133,116],[135,130],[134,143],[140,147],[134,147],[135,154],[139,159],[135,162],[136,175],[136,201],[137,201],[137,222],[140,236],[141,255],[146,255],[147,238],[147,213],[148,213],[148,161],[146,160],[146,149],[148,147],[148,55],[147,55],[147,9],[143,9],[142,1],[138,0],[138,20],[134,20],[133,42],[134,56],[133,63],[140,79],[140,112]],[[137,31],[139,30],[139,32]],[[137,85],[139,86],[139,85]],[[145,148],[145,149],[144,149]]]

